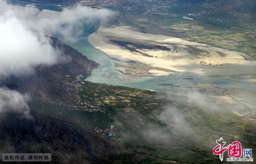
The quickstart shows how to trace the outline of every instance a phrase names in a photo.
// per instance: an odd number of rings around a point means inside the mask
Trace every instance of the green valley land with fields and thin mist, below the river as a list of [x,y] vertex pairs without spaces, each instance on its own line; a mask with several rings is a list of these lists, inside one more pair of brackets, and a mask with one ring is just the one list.
[[[245,147],[256,146],[254,126],[229,110],[207,110],[167,100],[164,93],[88,81],[80,86],[79,97],[100,106],[103,112],[86,112],[74,102],[32,103],[38,112],[70,120],[85,129],[115,125],[115,137],[134,154],[111,154],[111,163],[158,163],[156,158],[218,163],[211,151],[220,136],[227,143],[238,140]],[[137,154],[151,157],[137,159]]]

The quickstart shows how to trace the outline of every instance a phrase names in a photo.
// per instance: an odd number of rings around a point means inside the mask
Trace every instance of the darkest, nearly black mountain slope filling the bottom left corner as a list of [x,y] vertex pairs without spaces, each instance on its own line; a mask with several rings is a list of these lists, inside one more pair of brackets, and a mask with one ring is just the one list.
[[31,115],[0,115],[1,153],[51,153],[53,163],[106,163],[100,156],[109,143],[60,118]]

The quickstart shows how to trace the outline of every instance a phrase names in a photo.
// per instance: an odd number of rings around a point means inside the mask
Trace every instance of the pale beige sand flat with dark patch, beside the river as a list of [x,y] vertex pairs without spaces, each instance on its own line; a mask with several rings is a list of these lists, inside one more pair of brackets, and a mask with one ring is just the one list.
[[[109,38],[118,40],[129,40],[132,42],[151,42],[160,46],[178,47],[177,52],[156,51],[138,49],[147,52],[154,57],[142,56],[136,52],[129,51],[121,46],[110,42]],[[123,61],[138,61],[176,72],[193,72],[200,75],[236,75],[236,74],[255,74],[256,62],[245,60],[240,52],[213,47],[196,42],[170,37],[165,35],[145,34],[132,30],[127,26],[116,28],[100,27],[96,33],[88,37],[91,45],[105,52],[112,58]],[[198,56],[191,56],[190,48],[196,51],[204,51]],[[246,56],[246,54],[244,54]],[[166,76],[166,72],[157,74]]]

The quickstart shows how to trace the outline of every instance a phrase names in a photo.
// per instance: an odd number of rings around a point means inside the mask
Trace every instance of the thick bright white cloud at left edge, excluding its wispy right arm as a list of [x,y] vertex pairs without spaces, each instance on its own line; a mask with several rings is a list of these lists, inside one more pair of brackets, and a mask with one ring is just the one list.
[[44,35],[28,30],[16,17],[0,20],[0,75],[31,73],[37,65],[57,62],[58,51]]

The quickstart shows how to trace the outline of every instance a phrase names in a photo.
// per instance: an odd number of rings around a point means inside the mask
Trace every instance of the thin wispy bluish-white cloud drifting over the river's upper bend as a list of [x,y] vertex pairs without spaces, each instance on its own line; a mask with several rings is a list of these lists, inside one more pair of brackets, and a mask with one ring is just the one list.
[[115,13],[108,9],[95,9],[76,6],[64,9],[51,17],[37,19],[36,28],[47,34],[60,34],[62,39],[73,42],[85,31],[85,25],[95,21],[107,20]]

